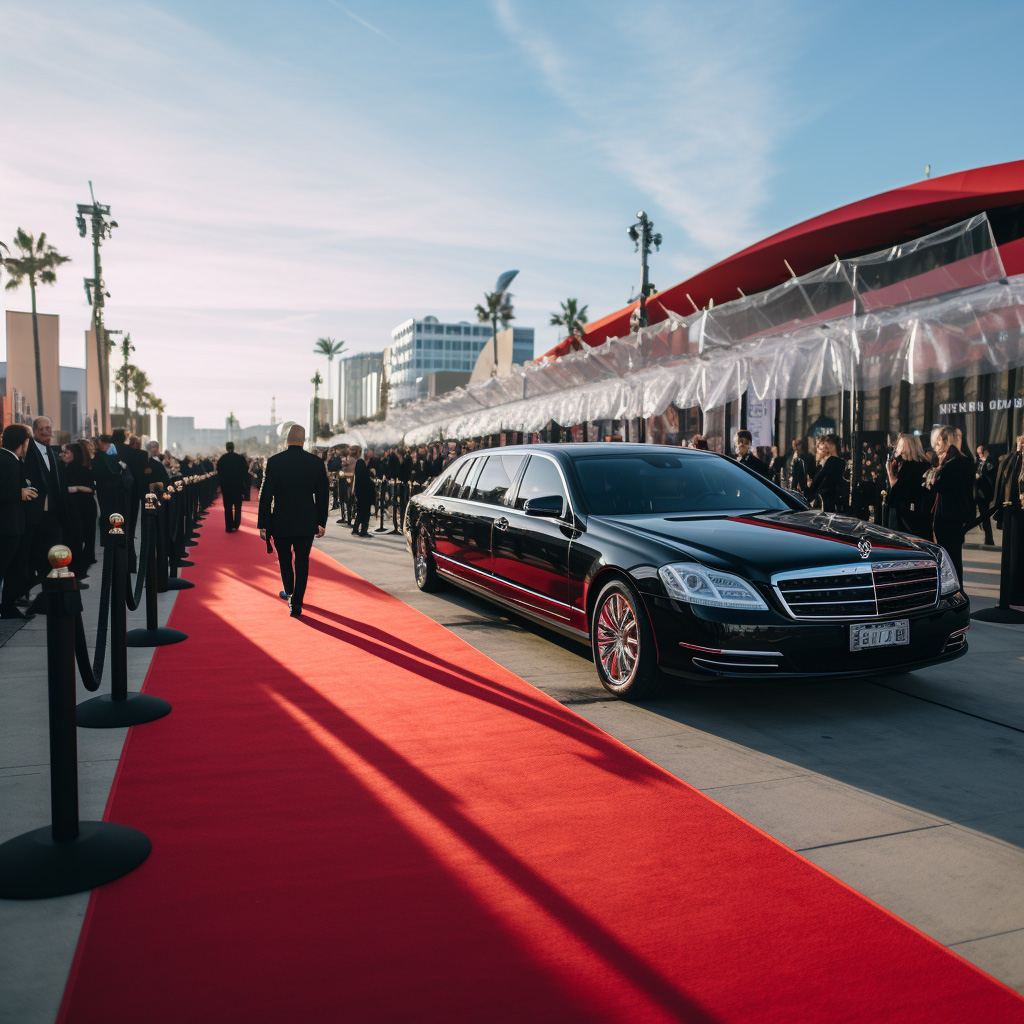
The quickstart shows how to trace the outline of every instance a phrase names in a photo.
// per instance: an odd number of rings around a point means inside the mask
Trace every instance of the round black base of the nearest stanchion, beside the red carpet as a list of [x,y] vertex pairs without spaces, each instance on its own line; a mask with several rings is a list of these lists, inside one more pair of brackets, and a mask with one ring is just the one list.
[[95,889],[134,870],[153,849],[137,828],[80,821],[77,838],[53,841],[49,825],[0,846],[0,898],[46,899]]

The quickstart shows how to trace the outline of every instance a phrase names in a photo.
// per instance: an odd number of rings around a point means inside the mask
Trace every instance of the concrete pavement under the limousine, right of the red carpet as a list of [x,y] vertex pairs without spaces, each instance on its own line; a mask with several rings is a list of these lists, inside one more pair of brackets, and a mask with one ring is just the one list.
[[[586,647],[454,588],[420,593],[399,536],[332,520],[316,546],[1024,992],[1024,627],[975,623],[965,657],[913,674],[680,683],[638,706]],[[993,603],[994,552],[966,551],[965,569]]]

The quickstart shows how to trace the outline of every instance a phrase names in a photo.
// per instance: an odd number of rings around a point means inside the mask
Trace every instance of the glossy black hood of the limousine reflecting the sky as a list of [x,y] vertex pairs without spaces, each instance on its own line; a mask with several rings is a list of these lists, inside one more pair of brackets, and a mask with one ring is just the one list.
[[[602,516],[616,531],[662,542],[688,559],[748,579],[768,581],[790,569],[935,559],[928,542],[849,516],[816,511],[737,512],[691,518],[681,515]],[[862,558],[858,544],[871,549]]]

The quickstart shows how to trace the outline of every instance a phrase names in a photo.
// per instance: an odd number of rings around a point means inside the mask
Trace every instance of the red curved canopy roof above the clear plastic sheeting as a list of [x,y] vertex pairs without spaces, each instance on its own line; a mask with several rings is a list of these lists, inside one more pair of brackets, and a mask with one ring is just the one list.
[[[656,324],[670,312],[692,312],[687,295],[703,307],[711,300],[720,305],[738,298],[737,289],[748,295],[763,292],[790,276],[783,260],[788,260],[797,274],[808,273],[837,255],[849,257],[885,249],[983,210],[1021,203],[1024,160],[918,181],[812,217],[729,256],[650,298],[648,317]],[[1024,273],[1024,239],[1001,246],[999,252],[1008,273]],[[588,324],[586,343],[599,345],[608,338],[628,335],[630,315],[638,305],[634,302]],[[561,356],[568,351],[566,338],[545,355]]]

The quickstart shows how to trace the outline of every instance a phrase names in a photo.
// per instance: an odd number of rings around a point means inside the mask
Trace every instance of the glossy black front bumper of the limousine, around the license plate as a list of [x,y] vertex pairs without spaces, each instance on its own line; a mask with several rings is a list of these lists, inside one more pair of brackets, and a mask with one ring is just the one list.
[[796,622],[774,611],[743,614],[650,594],[644,600],[660,667],[701,681],[906,672],[967,653],[971,625],[971,605],[961,592],[942,598],[934,608],[888,616],[909,620],[908,644],[851,651],[851,625],[887,620]]

